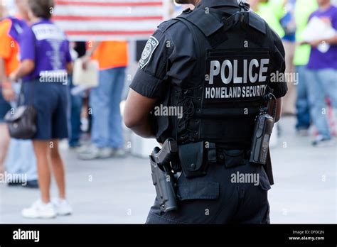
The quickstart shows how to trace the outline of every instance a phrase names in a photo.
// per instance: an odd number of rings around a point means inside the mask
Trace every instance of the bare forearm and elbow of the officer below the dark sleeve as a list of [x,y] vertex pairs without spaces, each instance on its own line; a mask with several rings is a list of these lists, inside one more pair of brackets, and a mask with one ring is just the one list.
[[150,111],[156,99],[150,99],[130,89],[124,108],[124,124],[134,133],[144,138],[154,138],[151,128]]

